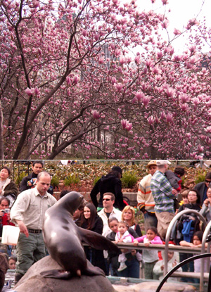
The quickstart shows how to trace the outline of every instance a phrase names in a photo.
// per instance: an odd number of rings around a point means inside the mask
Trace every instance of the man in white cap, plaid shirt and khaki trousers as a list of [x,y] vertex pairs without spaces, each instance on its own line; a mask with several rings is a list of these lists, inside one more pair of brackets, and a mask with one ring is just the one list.
[[168,160],[156,160],[158,170],[151,179],[151,191],[155,200],[155,215],[158,219],[158,233],[165,238],[167,228],[174,217],[174,198],[177,190],[173,189],[165,177],[171,164]]

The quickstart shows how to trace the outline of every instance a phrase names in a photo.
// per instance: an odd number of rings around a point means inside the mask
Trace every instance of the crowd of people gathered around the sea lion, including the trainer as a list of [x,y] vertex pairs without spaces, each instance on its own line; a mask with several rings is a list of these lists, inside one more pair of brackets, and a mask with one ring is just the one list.
[[[137,203],[143,213],[144,230],[136,222],[135,209],[123,200],[122,169],[119,166],[112,167],[108,174],[96,182],[90,193],[90,201],[75,211],[73,219],[79,227],[102,234],[115,243],[131,243],[134,246],[132,249],[121,248],[119,253],[84,247],[87,259],[92,265],[103,269],[106,275],[139,278],[141,263],[146,279],[162,279],[165,256],[168,258],[168,270],[190,256],[172,252],[164,255],[151,248],[141,253],[136,249],[139,243],[146,247],[165,243],[172,218],[182,210],[196,210],[207,222],[210,221],[211,172],[207,172],[205,182],[184,191],[181,186],[184,167],[175,167],[172,172],[168,170],[170,164],[168,160],[149,161],[146,166],[149,173],[139,183]],[[51,176],[43,167],[41,161],[34,161],[32,173],[23,178],[19,191],[9,179],[10,169],[4,166],[0,171],[0,235],[4,225],[16,225],[20,229],[16,248],[7,246],[5,250],[1,244],[0,249],[0,255],[7,255],[7,269],[15,268],[15,284],[34,262],[48,254],[42,237],[42,223],[45,211],[56,203],[56,198],[53,196]],[[68,192],[62,191],[60,198]],[[203,226],[198,216],[190,212],[181,216],[174,225],[170,243],[199,247],[202,234]],[[10,260],[13,264],[10,264]],[[200,261],[185,265],[182,269],[196,272],[200,269]],[[184,278],[182,281],[191,279]]]

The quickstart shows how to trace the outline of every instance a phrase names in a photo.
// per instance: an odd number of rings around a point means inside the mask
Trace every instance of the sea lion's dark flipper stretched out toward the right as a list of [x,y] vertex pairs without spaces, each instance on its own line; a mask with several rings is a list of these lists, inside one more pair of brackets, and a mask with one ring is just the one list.
[[116,252],[119,251],[119,248],[112,241],[106,239],[106,237],[101,234],[80,227],[78,227],[78,231],[82,241],[89,244],[91,248],[96,248],[99,250],[114,250]]

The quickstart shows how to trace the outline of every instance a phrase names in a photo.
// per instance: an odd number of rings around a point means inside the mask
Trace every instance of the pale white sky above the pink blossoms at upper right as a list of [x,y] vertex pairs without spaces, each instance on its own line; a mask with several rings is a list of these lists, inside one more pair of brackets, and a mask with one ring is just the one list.
[[[162,5],[161,0],[155,0],[154,4],[151,3],[151,0],[137,0],[136,4],[141,10],[153,10],[156,13],[162,14],[165,12],[165,6]],[[170,21],[168,30],[170,30],[172,37],[174,28],[182,30],[188,23],[188,20],[196,18],[196,16],[198,20],[203,20],[205,16],[207,26],[211,27],[210,0],[168,0],[166,8],[167,11],[170,9],[170,12],[167,12],[167,18]],[[173,46],[181,52],[184,51],[185,42],[186,37],[179,37],[178,40],[173,42]],[[208,50],[208,47],[206,49]]]

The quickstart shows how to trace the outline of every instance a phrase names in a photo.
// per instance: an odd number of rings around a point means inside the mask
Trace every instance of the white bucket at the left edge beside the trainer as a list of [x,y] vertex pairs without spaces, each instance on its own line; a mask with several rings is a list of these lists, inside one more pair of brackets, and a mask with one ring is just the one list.
[[2,230],[1,243],[8,246],[16,246],[20,234],[19,227],[4,225]]

